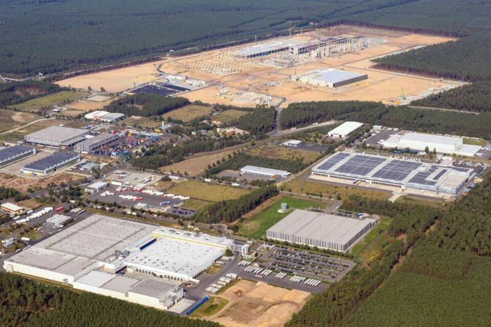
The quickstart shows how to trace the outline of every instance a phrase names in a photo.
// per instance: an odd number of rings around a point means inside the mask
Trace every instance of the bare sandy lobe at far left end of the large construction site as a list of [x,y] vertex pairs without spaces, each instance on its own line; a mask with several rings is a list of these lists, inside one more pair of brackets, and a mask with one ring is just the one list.
[[80,75],[57,82],[61,86],[97,90],[104,87],[108,92],[121,92],[157,79],[157,67],[164,61],[149,62],[137,66],[114,69],[112,71]]

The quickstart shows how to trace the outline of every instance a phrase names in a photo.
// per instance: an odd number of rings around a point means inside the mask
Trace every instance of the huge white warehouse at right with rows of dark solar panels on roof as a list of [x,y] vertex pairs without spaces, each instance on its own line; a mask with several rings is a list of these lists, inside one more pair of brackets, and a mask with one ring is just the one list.
[[311,177],[457,195],[473,173],[472,169],[438,166],[418,159],[337,152],[316,165]]

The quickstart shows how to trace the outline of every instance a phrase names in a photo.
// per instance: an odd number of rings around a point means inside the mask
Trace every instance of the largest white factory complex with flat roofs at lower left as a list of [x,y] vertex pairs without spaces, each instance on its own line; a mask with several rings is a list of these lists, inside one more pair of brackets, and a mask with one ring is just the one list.
[[92,215],[4,261],[9,272],[167,310],[182,282],[219,259],[232,239]]

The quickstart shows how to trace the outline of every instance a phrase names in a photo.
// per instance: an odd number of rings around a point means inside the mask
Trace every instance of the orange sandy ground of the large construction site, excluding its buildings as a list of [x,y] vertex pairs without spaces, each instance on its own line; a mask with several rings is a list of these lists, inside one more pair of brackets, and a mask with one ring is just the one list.
[[[384,39],[386,42],[354,53],[346,53],[318,60],[305,59],[303,63],[286,68],[259,64],[259,61],[263,60],[263,58],[259,58],[255,59],[257,61],[255,62],[255,66],[251,64],[241,72],[222,76],[212,75],[209,72],[197,68],[189,68],[189,65],[186,67],[183,63],[195,61],[216,62],[217,60],[222,60],[221,58],[224,58],[224,53],[228,50],[216,50],[169,59],[162,62],[161,70],[169,74],[182,74],[206,82],[219,83],[225,85],[229,90],[227,95],[217,97],[218,87],[212,85],[182,94],[182,96],[191,101],[200,100],[206,103],[241,107],[254,107],[257,104],[254,94],[260,97],[266,94],[271,95],[273,97],[273,101],[270,103],[271,105],[278,105],[284,99],[285,101],[281,104],[282,107],[292,102],[319,100],[371,100],[397,104],[403,98],[403,93],[406,97],[422,96],[429,94],[429,92],[459,85],[451,81],[441,81],[438,79],[396,74],[373,69],[373,63],[370,61],[373,58],[390,53],[407,51],[415,46],[452,41],[454,40],[452,38],[350,26],[337,26],[319,31],[324,36],[340,34],[364,35]],[[296,37],[312,38],[314,36],[315,33],[310,32],[310,34],[306,33]],[[284,56],[284,53],[278,53],[267,58],[277,58],[280,56]],[[232,60],[233,63],[234,61],[235,59]],[[155,73],[157,73],[156,69],[160,63],[147,63],[134,67],[116,69],[114,71],[82,75],[58,83],[64,86],[71,85],[80,88],[87,88],[90,85],[94,89],[102,86],[108,91],[122,91],[133,87],[133,83],[140,84],[156,80],[157,75]],[[291,76],[295,75],[295,73],[300,75],[316,69],[329,67],[368,74],[368,80],[336,89],[316,87],[291,80]]]

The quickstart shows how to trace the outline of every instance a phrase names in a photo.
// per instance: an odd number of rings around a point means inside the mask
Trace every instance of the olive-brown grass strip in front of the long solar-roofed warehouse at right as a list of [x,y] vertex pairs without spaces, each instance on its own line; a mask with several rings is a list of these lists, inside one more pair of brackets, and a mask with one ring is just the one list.
[[281,185],[281,190],[299,194],[322,195],[326,198],[341,198],[347,199],[351,195],[360,195],[372,199],[387,199],[390,196],[389,192],[359,189],[351,186],[334,185],[328,183],[315,182],[305,180],[298,176]]

